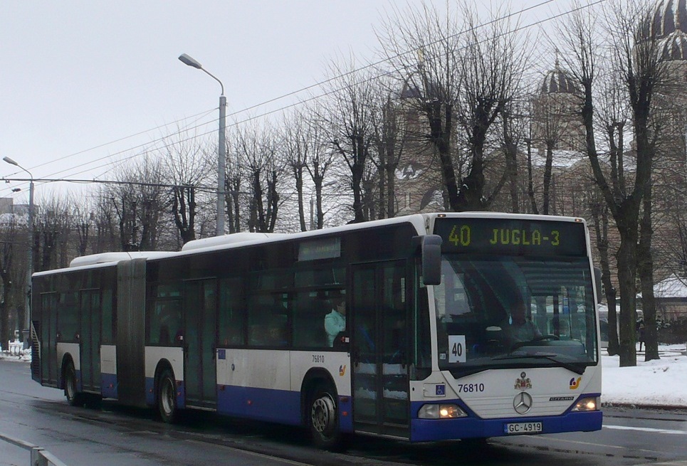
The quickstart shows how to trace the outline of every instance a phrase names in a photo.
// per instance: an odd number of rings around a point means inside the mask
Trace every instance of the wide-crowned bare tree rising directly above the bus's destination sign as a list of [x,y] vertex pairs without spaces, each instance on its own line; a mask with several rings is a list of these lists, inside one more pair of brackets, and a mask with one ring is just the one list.
[[[394,12],[396,17],[384,24],[382,47],[397,73],[409,74],[404,79],[421,95],[416,100],[424,122],[421,137],[439,157],[449,207],[484,210],[508,176],[503,171],[492,192],[486,192],[485,169],[491,155],[486,144],[495,132],[494,123],[519,92],[528,58],[517,28],[507,20],[481,25],[467,6],[460,15],[446,11],[443,16],[426,4]],[[416,66],[407,51],[419,53]],[[469,154],[464,176],[455,166],[458,127]]]

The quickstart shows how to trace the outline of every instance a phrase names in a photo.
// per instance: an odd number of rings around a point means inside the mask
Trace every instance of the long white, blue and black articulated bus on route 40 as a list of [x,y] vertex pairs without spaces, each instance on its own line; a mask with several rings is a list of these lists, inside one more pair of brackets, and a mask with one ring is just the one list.
[[31,372],[73,405],[303,425],[321,448],[599,430],[594,277],[582,219],[505,213],[84,256],[33,275]]

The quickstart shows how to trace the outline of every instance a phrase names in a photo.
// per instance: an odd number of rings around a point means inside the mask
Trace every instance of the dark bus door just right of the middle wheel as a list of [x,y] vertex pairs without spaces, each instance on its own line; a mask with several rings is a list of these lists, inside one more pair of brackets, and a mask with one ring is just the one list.
[[217,280],[186,283],[184,298],[184,386],[190,406],[214,408]]

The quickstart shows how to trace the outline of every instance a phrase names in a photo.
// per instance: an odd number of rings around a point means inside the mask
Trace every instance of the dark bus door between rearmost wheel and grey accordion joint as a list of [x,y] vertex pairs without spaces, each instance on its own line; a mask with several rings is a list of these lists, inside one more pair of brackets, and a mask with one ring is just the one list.
[[100,392],[100,290],[79,292],[81,386]]

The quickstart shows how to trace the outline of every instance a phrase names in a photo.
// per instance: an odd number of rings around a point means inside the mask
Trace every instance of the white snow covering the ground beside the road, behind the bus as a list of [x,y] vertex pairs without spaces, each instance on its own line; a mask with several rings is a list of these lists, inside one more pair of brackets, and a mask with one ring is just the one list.
[[[602,403],[687,408],[685,345],[659,346],[659,356],[657,361],[644,362],[644,353],[638,352],[636,367],[620,367],[619,356],[608,356],[602,349]],[[1,351],[0,359],[31,361],[31,353]]]

